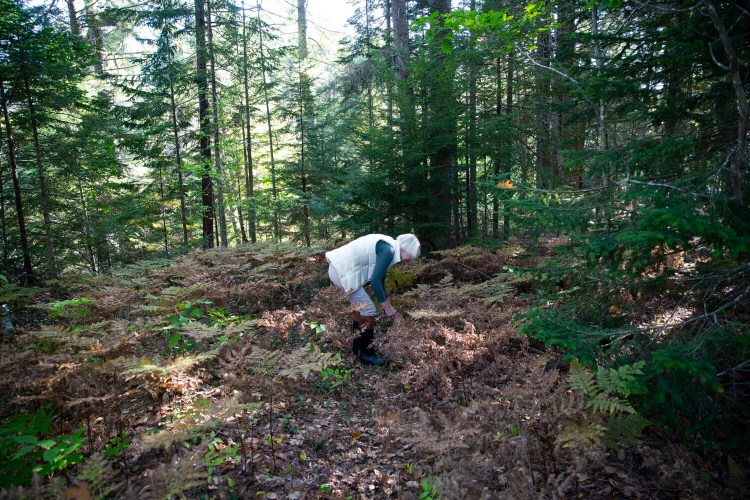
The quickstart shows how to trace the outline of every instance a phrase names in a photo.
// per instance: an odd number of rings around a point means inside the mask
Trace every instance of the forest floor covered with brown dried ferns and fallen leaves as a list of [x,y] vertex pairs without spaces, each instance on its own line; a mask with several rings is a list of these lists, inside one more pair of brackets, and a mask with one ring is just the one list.
[[65,473],[0,497],[735,495],[718,451],[655,426],[610,446],[587,432],[607,416],[558,352],[518,333],[533,283],[505,267],[554,251],[461,247],[394,267],[384,368],[351,354],[321,251],[196,251],[27,290],[0,343],[0,420],[48,405],[52,434],[85,443]]

